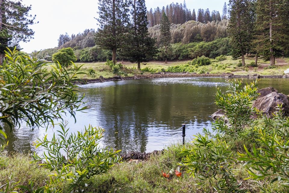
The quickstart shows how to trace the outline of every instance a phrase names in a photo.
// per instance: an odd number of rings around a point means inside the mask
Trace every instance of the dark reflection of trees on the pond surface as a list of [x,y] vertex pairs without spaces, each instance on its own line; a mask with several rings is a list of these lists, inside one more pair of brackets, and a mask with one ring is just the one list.
[[[125,84],[100,89],[103,94],[101,126],[105,128],[103,143],[123,151],[145,151],[148,128],[167,125],[166,128],[179,129],[183,122],[195,122],[195,116],[202,114],[202,109],[206,108],[207,112],[208,106],[212,106],[214,111],[213,102],[208,104],[214,94],[200,97],[211,89],[179,84]],[[210,120],[209,116],[199,118],[200,123]]]

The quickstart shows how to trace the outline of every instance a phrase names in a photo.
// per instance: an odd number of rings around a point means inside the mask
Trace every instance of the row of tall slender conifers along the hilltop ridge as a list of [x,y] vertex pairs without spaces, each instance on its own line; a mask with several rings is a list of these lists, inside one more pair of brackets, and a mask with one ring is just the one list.
[[191,20],[207,24],[208,21],[221,21],[222,19],[227,19],[228,8],[225,3],[221,16],[220,12],[216,10],[210,12],[209,9],[198,9],[197,13],[195,9],[191,11],[187,8],[185,1],[183,4],[171,3],[170,5],[166,5],[166,7],[163,7],[162,9],[157,7],[154,10],[151,8],[150,11],[147,11],[148,27],[153,27],[160,24],[163,12],[166,13],[169,21],[172,24],[184,24],[185,22]]

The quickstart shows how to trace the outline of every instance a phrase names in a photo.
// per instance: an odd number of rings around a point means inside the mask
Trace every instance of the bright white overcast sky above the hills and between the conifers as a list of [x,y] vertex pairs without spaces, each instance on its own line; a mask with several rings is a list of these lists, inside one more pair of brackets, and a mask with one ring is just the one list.
[[[150,8],[162,8],[170,3],[182,3],[180,1],[167,0],[146,0],[146,6]],[[196,13],[199,8],[210,11],[217,10],[222,14],[222,8],[226,0],[187,0],[187,8],[195,9]],[[30,26],[34,30],[34,39],[28,43],[20,43],[22,51],[32,52],[57,46],[57,39],[60,34],[67,32],[77,34],[85,29],[97,29],[98,1],[95,0],[23,0],[24,5],[32,5],[30,14],[36,15],[35,21],[38,24]],[[228,2],[227,2],[228,3]]]

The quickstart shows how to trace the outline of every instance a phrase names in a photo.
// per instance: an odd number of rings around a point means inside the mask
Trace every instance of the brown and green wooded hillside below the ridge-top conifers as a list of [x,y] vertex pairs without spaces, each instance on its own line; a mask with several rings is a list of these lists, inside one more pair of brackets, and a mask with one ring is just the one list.
[[[203,24],[196,21],[188,21],[185,24],[171,24],[172,52],[168,59],[193,59],[205,55],[215,58],[218,55],[229,53],[229,39],[227,37],[226,26],[228,20],[213,21]],[[160,25],[149,28],[149,33],[160,45]],[[52,54],[58,49],[71,47],[77,57],[78,62],[106,61],[111,59],[111,51],[100,49],[94,43],[94,29],[86,29],[77,35],[69,36],[61,34],[58,39],[58,46],[45,49],[38,53],[37,57],[51,60]],[[213,46],[215,48],[210,48]],[[193,51],[195,50],[195,51]],[[117,55],[117,59],[125,59]],[[158,53],[151,59],[161,60]]]

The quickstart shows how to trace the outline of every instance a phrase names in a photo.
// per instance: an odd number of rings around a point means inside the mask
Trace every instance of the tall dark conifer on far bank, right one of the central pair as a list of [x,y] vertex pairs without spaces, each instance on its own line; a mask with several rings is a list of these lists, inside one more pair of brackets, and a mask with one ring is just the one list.
[[141,62],[151,58],[155,53],[154,40],[148,36],[147,8],[144,0],[129,1],[131,7],[131,29],[127,46],[122,49],[122,54],[131,62],[137,62],[141,69]]

